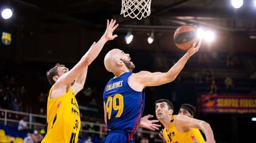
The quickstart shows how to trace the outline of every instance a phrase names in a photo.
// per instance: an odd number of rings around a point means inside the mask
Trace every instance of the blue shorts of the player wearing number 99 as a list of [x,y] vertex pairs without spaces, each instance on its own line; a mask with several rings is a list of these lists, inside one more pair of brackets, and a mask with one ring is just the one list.
[[127,142],[127,143],[135,143],[135,141],[128,141],[127,134],[121,132],[110,132],[107,134],[104,143],[113,143],[113,142]]

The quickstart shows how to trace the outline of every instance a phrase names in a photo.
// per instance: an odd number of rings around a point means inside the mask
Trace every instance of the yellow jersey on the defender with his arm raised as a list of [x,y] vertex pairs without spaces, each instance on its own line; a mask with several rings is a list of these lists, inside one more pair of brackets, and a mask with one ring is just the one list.
[[73,89],[58,98],[47,101],[47,133],[42,143],[77,143],[81,127],[80,112]]

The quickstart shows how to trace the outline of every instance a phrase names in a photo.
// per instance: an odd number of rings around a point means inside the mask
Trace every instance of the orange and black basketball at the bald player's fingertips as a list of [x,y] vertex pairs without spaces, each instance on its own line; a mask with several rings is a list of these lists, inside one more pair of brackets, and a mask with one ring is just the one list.
[[181,25],[173,34],[175,45],[181,50],[188,50],[194,42],[198,43],[197,30],[191,25]]

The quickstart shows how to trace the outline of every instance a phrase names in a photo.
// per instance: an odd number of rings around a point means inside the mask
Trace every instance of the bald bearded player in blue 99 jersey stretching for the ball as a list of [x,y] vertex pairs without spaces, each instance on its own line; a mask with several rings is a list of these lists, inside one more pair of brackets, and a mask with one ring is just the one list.
[[[114,77],[106,84],[103,93],[104,119],[107,124],[105,142],[135,142],[137,129],[144,111],[145,87],[172,82],[188,59],[199,50],[195,43],[167,72],[132,72],[135,68],[130,55],[119,49],[109,51],[104,66]],[[150,121],[148,121],[150,122]],[[147,128],[147,126],[142,126]]]

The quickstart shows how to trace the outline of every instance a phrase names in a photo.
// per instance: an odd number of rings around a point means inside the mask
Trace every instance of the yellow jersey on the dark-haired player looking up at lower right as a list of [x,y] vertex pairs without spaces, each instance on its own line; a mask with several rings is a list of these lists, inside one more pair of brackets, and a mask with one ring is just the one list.
[[187,132],[177,131],[173,119],[176,115],[173,115],[169,124],[169,131],[163,129],[163,136],[168,143],[203,143],[204,138],[199,129],[190,129]]

